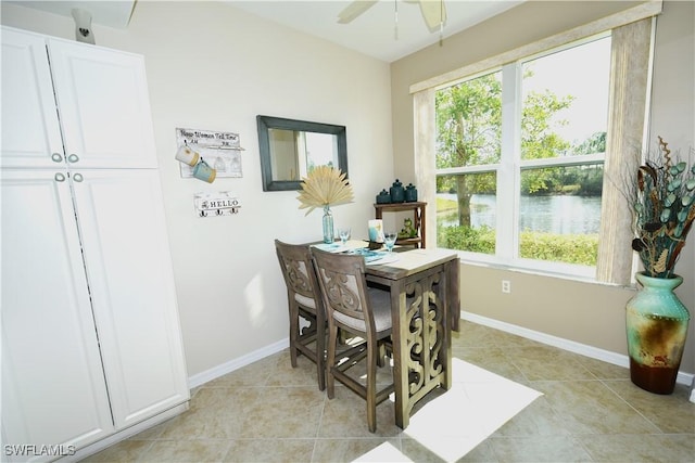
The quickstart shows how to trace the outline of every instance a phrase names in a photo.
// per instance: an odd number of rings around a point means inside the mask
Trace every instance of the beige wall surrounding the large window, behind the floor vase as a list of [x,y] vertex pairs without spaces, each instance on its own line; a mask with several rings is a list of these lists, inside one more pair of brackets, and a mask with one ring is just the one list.
[[[393,147],[396,176],[414,172],[409,86],[484,57],[513,50],[639,2],[529,2],[391,65]],[[650,132],[686,153],[695,146],[694,2],[664,2],[658,17]],[[626,245],[630,245],[626,243]],[[684,283],[677,293],[695,312],[695,236],[677,267]],[[501,281],[511,294],[501,293]],[[462,309],[552,336],[627,355],[624,305],[633,288],[579,283],[463,263]],[[695,330],[691,322],[681,371],[695,372]]]

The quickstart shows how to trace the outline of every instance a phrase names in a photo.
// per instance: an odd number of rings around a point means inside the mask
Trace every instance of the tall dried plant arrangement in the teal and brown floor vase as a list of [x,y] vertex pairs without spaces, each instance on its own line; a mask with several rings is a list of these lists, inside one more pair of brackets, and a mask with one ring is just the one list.
[[632,248],[645,274],[672,278],[695,219],[695,165],[673,159],[661,137],[661,156],[640,166],[634,185]]

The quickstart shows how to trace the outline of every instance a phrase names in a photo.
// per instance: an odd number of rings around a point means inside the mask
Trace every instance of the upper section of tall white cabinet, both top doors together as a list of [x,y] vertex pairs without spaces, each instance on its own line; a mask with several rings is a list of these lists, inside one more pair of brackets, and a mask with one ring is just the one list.
[[3,28],[2,69],[2,167],[157,166],[142,56]]

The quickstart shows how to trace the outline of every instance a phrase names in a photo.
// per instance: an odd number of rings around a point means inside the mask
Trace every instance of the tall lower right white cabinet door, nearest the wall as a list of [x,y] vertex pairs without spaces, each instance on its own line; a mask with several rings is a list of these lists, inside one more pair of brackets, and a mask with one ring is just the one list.
[[156,170],[80,170],[75,182],[116,427],[188,400]]

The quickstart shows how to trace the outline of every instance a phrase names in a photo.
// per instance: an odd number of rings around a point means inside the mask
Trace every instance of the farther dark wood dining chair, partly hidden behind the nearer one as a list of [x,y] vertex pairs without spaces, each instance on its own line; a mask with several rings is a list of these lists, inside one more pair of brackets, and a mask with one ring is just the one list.
[[[290,313],[290,362],[298,355],[316,363],[319,390],[326,389],[326,309],[320,296],[308,245],[275,240],[280,269],[287,286]],[[300,326],[303,319],[306,323]]]

